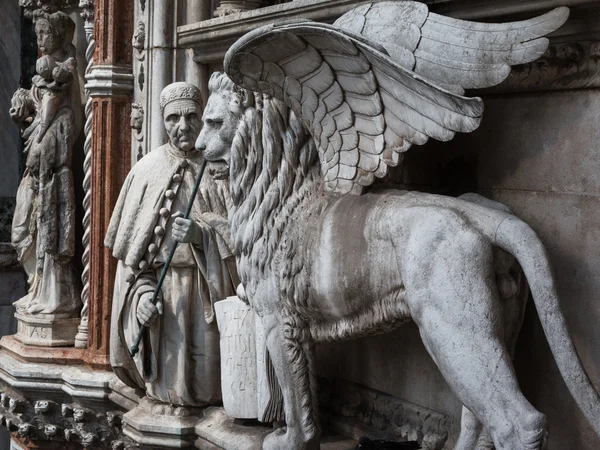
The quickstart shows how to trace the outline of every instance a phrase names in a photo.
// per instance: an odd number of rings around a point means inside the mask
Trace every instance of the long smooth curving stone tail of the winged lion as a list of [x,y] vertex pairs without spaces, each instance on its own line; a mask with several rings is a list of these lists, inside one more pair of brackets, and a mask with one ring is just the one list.
[[571,395],[600,436],[600,396],[587,376],[561,312],[550,260],[535,231],[515,216],[505,218],[495,233],[495,244],[519,261],[533,300]]

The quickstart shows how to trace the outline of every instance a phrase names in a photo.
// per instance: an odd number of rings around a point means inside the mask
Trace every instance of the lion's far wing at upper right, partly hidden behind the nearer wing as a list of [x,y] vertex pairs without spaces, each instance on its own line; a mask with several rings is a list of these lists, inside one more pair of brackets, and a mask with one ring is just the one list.
[[334,26],[381,44],[403,67],[452,92],[495,86],[511,66],[539,58],[544,36],[561,27],[569,8],[556,8],[529,20],[478,23],[429,12],[414,1],[367,3]]

